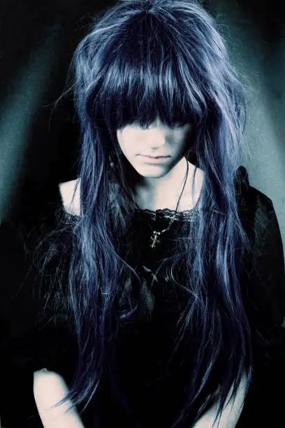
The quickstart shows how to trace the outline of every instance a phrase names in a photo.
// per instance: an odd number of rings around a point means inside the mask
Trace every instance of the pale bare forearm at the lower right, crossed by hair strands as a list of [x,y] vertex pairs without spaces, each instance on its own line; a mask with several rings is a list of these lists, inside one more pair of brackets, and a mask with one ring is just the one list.
[[[193,425],[193,428],[235,428],[242,413],[242,408],[244,406],[245,399],[245,386],[246,386],[246,376],[242,376],[240,385],[238,386],[238,391],[235,396],[235,399],[229,401],[228,406],[224,408],[221,413],[221,420],[219,419],[214,424],[214,418],[216,418],[219,402],[215,402],[212,407]],[[226,398],[228,401],[231,393],[233,391],[233,386],[231,391]],[[219,422],[219,424],[218,424]],[[214,424],[214,425],[213,425]]]

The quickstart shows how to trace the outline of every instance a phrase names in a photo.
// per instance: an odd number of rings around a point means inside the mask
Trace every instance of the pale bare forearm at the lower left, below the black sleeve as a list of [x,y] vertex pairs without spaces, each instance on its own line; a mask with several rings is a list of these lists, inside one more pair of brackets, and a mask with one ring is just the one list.
[[71,401],[51,408],[68,392],[64,378],[46,369],[34,372],[34,398],[44,428],[84,428],[75,408],[68,411]]

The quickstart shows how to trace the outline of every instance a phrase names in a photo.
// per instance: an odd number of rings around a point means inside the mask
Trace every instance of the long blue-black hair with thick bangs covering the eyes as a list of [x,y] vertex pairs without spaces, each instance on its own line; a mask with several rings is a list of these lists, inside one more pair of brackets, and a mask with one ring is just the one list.
[[[61,231],[71,237],[61,254],[68,259],[62,270],[68,273],[67,287],[59,279],[55,292],[46,294],[49,301],[53,297],[54,311],[66,308],[80,351],[65,400],[85,402],[86,408],[104,368],[113,368],[116,378],[112,351],[119,328],[150,311],[147,299],[136,299],[141,280],[128,262],[136,206],[116,131],[134,121],[147,128],[159,115],[168,127],[194,125],[188,149],[196,154],[195,174],[197,166],[204,174],[195,227],[181,231],[175,255],[160,266],[188,295],[173,355],[189,331],[198,343],[184,406],[171,427],[182,426],[223,355],[218,418],[231,385],[233,398],[245,373],[247,394],[252,373],[251,329],[240,284],[250,243],[235,187],[240,155],[248,154],[246,96],[218,24],[198,1],[119,2],[88,27],[69,78],[65,94],[72,92],[80,124],[80,216],[62,213],[59,219]],[[43,268],[53,256],[54,248]],[[183,285],[175,277],[175,266],[182,264]],[[201,414],[202,409],[196,420]]]

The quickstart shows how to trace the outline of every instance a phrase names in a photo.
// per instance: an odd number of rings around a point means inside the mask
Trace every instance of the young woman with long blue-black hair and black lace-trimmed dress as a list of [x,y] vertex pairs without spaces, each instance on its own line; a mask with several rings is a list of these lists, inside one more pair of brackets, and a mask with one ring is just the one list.
[[43,425],[235,427],[284,318],[284,259],[238,167],[246,102],[218,24],[198,1],[119,2],[72,69],[79,179],[34,338]]

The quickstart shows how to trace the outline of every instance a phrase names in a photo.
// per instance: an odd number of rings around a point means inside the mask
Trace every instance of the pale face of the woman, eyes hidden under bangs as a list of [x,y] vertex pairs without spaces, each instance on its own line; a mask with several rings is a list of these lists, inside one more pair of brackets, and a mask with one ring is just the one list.
[[117,129],[117,140],[124,156],[140,176],[159,178],[184,157],[192,129],[192,124],[170,129],[157,117],[148,129],[140,128],[136,122]]

